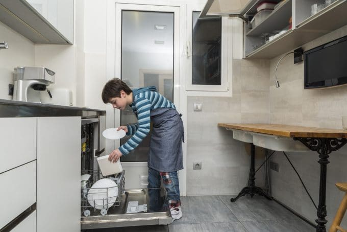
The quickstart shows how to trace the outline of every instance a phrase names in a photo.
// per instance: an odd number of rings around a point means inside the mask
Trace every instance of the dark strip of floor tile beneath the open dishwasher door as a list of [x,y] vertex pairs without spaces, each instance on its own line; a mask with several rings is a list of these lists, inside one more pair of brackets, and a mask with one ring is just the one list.
[[85,232],[138,232],[138,231],[168,232],[169,229],[167,225],[143,225],[143,226],[116,227],[116,228],[105,228],[105,229],[88,229],[84,231]]

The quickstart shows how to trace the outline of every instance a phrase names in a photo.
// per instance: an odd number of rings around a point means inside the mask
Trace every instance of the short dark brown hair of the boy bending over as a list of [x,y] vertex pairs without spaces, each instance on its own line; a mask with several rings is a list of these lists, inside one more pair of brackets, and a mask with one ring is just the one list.
[[101,94],[103,102],[106,104],[110,102],[111,98],[120,98],[121,90],[125,91],[126,94],[130,94],[132,92],[129,86],[119,78],[113,78],[109,80],[105,84],[103,92]]

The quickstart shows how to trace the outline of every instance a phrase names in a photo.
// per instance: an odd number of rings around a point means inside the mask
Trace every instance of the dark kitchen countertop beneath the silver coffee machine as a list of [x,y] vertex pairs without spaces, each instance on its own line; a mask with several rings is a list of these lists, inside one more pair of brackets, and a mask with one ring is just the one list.
[[100,109],[0,99],[0,118],[67,116],[89,118],[105,114],[106,111]]

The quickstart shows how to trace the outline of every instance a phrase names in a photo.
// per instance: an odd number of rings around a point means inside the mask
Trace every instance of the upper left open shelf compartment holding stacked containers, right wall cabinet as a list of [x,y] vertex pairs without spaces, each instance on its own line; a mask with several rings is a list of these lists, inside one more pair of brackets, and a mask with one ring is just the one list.
[[291,17],[291,0],[286,0],[281,6],[271,12],[258,26],[246,33],[246,36],[261,36],[262,33],[282,30],[289,25]]

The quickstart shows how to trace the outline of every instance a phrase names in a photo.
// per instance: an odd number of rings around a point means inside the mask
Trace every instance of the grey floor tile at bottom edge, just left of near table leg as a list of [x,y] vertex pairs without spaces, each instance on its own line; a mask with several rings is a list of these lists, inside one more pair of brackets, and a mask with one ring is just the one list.
[[314,232],[316,229],[306,222],[298,220],[248,221],[241,222],[250,232]]

